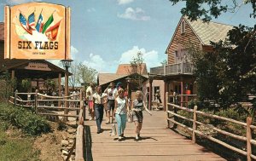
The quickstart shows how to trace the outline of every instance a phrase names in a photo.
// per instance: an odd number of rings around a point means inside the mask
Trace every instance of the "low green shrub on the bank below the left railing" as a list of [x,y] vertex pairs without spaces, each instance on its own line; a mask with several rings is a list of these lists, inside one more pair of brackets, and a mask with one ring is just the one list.
[[40,135],[50,131],[49,123],[45,118],[35,115],[24,108],[0,104],[0,119],[22,129],[29,135]]

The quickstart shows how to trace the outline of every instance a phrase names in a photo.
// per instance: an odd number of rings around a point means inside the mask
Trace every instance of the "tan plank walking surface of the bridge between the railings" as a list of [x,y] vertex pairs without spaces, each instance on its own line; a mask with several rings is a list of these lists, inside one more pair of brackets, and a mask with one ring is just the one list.
[[[125,140],[118,135],[110,136],[111,124],[105,124],[101,134],[96,134],[96,121],[86,121],[86,161],[172,161],[172,160],[225,160],[206,148],[166,129],[162,111],[153,111],[153,116],[144,112],[142,140],[134,141],[133,123],[127,123]],[[105,117],[105,116],[104,116]]]

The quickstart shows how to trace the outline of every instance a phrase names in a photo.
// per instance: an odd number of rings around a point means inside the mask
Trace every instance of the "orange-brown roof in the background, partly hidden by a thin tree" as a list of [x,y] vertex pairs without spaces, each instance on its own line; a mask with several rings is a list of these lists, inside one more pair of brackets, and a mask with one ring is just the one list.
[[[148,71],[147,71],[147,66],[145,63],[142,64],[142,75],[147,75]],[[117,69],[116,74],[126,74],[129,75],[132,73],[132,67],[131,64],[119,64],[119,67]]]

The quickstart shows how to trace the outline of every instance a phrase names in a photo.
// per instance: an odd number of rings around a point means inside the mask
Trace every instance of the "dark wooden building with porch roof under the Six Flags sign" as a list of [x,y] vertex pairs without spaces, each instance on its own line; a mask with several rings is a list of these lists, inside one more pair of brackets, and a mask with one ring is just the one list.
[[0,22],[0,74],[3,71],[8,71],[11,78],[18,81],[30,78],[36,89],[49,78],[57,78],[58,89],[61,89],[61,78],[65,76],[65,70],[47,60],[4,60],[4,23]]

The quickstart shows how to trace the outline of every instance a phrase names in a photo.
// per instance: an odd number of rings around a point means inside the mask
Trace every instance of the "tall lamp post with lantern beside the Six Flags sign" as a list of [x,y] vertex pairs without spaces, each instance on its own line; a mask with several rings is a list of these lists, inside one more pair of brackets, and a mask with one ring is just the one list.
[[[61,60],[62,66],[65,68],[65,96],[68,96],[68,68],[71,66],[73,60]],[[65,101],[65,107],[68,106],[68,102]],[[68,114],[67,109],[64,110],[64,114]],[[63,118],[64,121],[67,121],[67,117]]]

